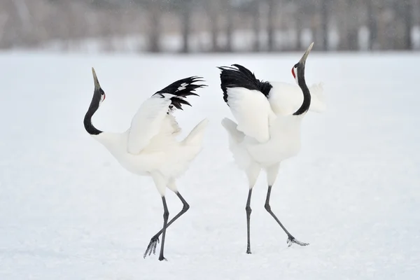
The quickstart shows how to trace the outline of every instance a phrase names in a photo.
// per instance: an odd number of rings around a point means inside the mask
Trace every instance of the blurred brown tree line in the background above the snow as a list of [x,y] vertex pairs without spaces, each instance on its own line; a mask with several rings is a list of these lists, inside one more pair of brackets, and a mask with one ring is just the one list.
[[0,48],[420,48],[420,0],[0,0]]

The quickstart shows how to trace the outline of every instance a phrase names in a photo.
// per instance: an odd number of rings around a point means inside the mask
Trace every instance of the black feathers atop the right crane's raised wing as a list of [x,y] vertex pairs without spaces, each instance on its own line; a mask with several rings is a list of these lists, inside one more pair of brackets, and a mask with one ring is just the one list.
[[223,90],[223,99],[228,103],[228,87],[244,87],[247,90],[258,90],[268,97],[272,85],[255,78],[255,75],[240,64],[232,64],[234,67],[221,66],[221,89]]

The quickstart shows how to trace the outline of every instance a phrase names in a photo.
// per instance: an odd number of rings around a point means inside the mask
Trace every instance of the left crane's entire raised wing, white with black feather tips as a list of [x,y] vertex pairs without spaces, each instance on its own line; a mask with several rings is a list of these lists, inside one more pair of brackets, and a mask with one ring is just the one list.
[[[182,105],[191,106],[185,99],[188,95],[197,95],[194,91],[205,85],[195,84],[200,77],[184,78],[168,85],[156,92],[152,97],[141,104],[134,115],[130,127],[130,134],[127,142],[128,153],[138,154],[151,139],[160,132],[178,133],[179,126],[172,114],[175,109],[182,109]],[[165,120],[167,120],[165,122]],[[162,131],[163,130],[163,131]],[[172,131],[173,130],[173,131]]]

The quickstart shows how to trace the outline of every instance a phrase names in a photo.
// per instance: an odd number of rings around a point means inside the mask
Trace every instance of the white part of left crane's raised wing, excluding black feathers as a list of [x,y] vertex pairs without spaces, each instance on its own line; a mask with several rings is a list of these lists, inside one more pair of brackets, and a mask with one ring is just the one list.
[[[165,97],[162,98],[162,95]],[[134,115],[128,136],[127,151],[134,155],[143,150],[160,132],[167,117],[172,94],[156,94],[146,99]],[[168,97],[168,98],[167,98]]]

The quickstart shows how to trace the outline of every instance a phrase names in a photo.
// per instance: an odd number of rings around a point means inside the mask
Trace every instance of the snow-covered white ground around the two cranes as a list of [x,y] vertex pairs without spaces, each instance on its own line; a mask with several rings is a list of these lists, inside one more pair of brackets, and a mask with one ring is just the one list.
[[[293,83],[288,55],[0,55],[0,279],[419,279],[420,55],[321,55],[307,82],[325,83],[328,110],[308,113],[302,151],[284,162],[272,209],[265,174],[253,190],[228,152],[216,66]],[[209,118],[205,147],[178,181],[190,211],[167,231],[165,257],[143,258],[162,226],[153,181],[125,171],[83,128],[94,66],[104,131],[130,125],[139,104],[186,76],[209,87],[176,116],[183,135]],[[168,193],[169,218],[182,204]],[[158,245],[158,250],[160,246]]]

